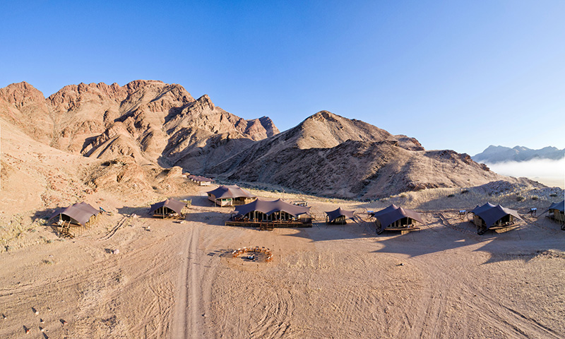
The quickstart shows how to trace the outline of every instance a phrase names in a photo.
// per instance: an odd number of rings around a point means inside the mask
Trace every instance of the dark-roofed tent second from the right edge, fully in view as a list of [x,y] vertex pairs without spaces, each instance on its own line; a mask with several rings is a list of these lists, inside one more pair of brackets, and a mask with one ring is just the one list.
[[500,205],[485,203],[470,211],[473,213],[473,222],[477,226],[477,234],[484,234],[487,230],[499,230],[514,225],[514,219],[522,220],[516,210],[504,208]]

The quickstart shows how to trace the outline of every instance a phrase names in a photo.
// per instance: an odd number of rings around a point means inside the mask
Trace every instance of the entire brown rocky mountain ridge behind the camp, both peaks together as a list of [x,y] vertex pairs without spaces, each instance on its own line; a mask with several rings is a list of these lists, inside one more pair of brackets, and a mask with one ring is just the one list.
[[0,89],[0,119],[45,147],[72,155],[121,159],[126,167],[178,166],[232,182],[325,196],[379,198],[518,181],[469,155],[424,150],[415,138],[331,112],[318,112],[279,133],[268,117],[242,119],[215,106],[208,95],[194,99],[181,85],[161,81],[81,83],[47,98],[28,83],[12,84]]

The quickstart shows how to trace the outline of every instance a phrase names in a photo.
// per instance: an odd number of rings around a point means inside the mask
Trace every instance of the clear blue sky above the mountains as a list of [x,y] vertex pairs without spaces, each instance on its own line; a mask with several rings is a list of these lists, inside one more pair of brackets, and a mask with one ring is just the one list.
[[4,1],[0,87],[155,79],[474,155],[565,148],[565,1]]

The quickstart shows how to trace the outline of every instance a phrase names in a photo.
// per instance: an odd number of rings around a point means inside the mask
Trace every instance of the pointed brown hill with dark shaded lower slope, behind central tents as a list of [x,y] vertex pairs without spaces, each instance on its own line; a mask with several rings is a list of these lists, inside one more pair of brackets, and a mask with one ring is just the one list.
[[240,182],[262,182],[345,198],[376,198],[436,187],[511,179],[453,150],[424,150],[362,121],[318,112],[210,167]]

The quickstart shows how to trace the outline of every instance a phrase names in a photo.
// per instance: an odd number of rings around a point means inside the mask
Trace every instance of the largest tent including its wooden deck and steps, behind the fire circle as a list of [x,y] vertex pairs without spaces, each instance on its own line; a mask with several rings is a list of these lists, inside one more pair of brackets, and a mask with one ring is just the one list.
[[311,227],[312,218],[310,208],[296,206],[281,199],[264,201],[256,199],[251,203],[235,208],[231,220],[226,222],[229,226],[259,226],[263,224],[270,227]]

